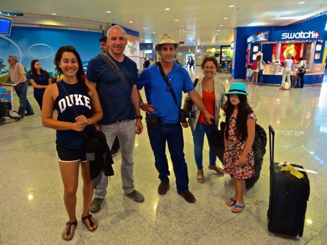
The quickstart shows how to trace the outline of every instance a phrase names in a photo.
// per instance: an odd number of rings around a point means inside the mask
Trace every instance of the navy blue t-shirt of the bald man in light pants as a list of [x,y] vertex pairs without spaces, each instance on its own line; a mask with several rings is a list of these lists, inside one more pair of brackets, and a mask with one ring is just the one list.
[[[107,53],[108,54],[108,53]],[[123,62],[116,61],[130,83],[130,88],[137,82],[137,66],[127,56]],[[97,84],[103,118],[99,124],[112,124],[123,119],[135,119],[135,111],[131,100],[131,92],[107,63],[96,56],[87,65],[86,79]]]

